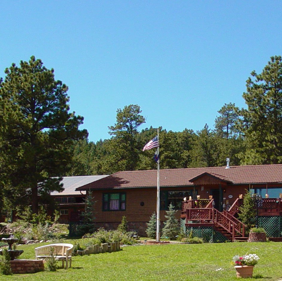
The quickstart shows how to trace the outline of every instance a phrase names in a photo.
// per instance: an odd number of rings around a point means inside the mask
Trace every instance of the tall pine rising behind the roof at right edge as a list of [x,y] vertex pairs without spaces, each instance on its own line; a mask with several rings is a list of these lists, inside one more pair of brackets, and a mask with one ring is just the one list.
[[246,152],[242,165],[282,163],[282,58],[272,56],[261,74],[251,72],[243,98],[241,130]]

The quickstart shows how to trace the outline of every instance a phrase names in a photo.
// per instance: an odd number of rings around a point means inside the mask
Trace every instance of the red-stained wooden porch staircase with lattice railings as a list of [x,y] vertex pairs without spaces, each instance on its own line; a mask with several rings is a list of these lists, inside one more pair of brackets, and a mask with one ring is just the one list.
[[[240,199],[238,198],[238,200]],[[239,210],[240,201],[238,200],[234,202],[229,211],[224,210],[223,212],[219,212],[217,209],[211,207],[213,199],[209,200],[208,204],[205,207],[201,206],[201,208],[196,208],[197,206],[193,206],[193,208],[192,203],[187,204],[186,207],[189,206],[190,208],[182,209],[183,215],[185,211],[185,225],[188,227],[211,226],[231,242],[235,240],[246,241],[246,225],[234,217]]]

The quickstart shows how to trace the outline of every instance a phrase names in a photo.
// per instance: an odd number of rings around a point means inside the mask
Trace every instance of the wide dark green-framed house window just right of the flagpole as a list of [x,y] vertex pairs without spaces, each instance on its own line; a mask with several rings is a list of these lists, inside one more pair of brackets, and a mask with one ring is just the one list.
[[185,191],[161,191],[160,192],[160,209],[168,210],[170,203],[174,206],[174,210],[181,210],[183,198],[193,197],[193,190]]

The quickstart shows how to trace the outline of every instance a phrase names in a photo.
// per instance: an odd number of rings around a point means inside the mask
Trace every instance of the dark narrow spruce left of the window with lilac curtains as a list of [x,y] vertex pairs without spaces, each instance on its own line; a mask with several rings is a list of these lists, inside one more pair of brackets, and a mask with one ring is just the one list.
[[82,234],[93,233],[95,230],[96,217],[95,217],[94,205],[96,204],[96,201],[94,200],[91,191],[89,191],[84,202],[85,202],[85,210],[80,214],[82,223],[78,227],[78,231],[81,232]]

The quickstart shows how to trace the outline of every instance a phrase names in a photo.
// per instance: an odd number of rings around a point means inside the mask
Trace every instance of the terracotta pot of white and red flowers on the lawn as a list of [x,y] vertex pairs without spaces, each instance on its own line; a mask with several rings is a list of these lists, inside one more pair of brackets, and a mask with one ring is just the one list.
[[232,265],[236,270],[238,278],[247,278],[253,276],[254,265],[257,264],[260,258],[256,254],[249,254],[244,256],[234,256]]

